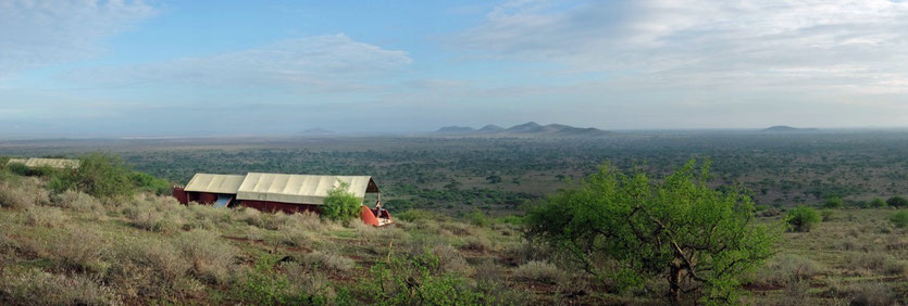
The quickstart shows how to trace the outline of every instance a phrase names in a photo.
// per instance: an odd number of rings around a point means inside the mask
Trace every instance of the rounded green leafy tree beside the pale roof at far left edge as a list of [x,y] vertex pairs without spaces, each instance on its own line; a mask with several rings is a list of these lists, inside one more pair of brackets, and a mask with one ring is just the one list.
[[55,193],[78,190],[96,197],[130,196],[135,193],[132,170],[119,156],[92,153],[79,161],[78,168],[55,173],[48,188]]

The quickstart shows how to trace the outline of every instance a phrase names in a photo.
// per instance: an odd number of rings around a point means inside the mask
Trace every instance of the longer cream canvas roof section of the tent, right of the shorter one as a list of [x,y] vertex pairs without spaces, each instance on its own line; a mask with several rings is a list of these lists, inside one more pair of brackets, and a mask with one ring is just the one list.
[[236,199],[321,205],[328,191],[339,187],[340,182],[349,183],[347,191],[360,199],[364,197],[366,192],[381,192],[369,176],[250,173],[239,187]]

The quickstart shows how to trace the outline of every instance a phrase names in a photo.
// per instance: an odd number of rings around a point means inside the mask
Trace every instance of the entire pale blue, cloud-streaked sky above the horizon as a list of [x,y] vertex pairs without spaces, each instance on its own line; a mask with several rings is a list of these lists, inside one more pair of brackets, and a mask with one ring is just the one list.
[[0,0],[0,138],[908,126],[908,2]]

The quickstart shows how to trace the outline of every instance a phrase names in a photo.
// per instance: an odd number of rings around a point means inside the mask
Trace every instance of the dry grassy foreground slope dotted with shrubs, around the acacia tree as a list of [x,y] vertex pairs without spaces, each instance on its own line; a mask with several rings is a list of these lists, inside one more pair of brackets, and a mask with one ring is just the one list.
[[[0,180],[0,304],[666,303],[659,280],[613,292],[527,242],[517,218],[410,211],[373,228],[148,194],[50,195],[45,183]],[[908,302],[908,238],[888,220],[895,212],[838,209],[810,232],[784,233],[741,302]]]

